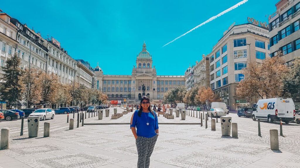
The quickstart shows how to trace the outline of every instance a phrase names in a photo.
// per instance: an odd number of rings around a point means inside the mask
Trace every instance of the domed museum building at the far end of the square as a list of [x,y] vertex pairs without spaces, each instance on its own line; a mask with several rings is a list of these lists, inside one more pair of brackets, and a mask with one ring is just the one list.
[[183,75],[156,74],[152,55],[146,50],[145,43],[142,51],[137,55],[136,65],[133,66],[131,75],[104,75],[99,66],[95,68],[95,74],[97,89],[107,94],[108,100],[121,100],[122,103],[140,103],[143,95],[154,102],[163,103],[164,94],[169,89],[185,87]]

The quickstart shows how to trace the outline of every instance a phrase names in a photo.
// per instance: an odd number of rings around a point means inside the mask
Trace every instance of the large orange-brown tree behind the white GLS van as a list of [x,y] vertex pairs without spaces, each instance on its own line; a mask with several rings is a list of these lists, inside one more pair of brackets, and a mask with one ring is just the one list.
[[282,96],[283,80],[288,73],[282,56],[282,51],[278,51],[277,56],[263,60],[261,66],[256,65],[256,62],[250,62],[242,70],[244,79],[237,86],[237,95],[239,97],[259,96],[260,98]]

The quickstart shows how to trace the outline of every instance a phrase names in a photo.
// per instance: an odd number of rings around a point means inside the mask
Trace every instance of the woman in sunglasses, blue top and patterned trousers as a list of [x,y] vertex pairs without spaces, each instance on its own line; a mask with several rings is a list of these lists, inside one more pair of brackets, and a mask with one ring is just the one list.
[[151,109],[149,97],[143,96],[140,106],[140,110],[132,114],[130,128],[137,145],[137,168],[149,168],[150,156],[159,135],[158,118]]

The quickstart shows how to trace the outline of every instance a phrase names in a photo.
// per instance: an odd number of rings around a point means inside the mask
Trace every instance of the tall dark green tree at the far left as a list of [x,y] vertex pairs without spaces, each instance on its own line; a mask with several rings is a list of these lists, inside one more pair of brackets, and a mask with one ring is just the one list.
[[19,68],[21,59],[18,54],[13,54],[12,57],[8,58],[6,65],[3,67],[3,83],[0,84],[1,96],[7,101],[7,105],[17,102],[22,99],[22,91],[24,85],[22,83],[22,75],[24,71]]

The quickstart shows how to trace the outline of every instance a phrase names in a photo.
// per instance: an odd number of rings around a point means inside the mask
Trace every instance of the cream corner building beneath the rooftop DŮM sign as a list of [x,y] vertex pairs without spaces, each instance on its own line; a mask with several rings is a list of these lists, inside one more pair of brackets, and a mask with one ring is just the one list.
[[230,109],[253,106],[257,98],[246,99],[236,95],[236,86],[244,78],[241,70],[248,62],[261,64],[269,55],[268,28],[252,23],[231,26],[213,47],[209,57],[210,87],[216,101]]

